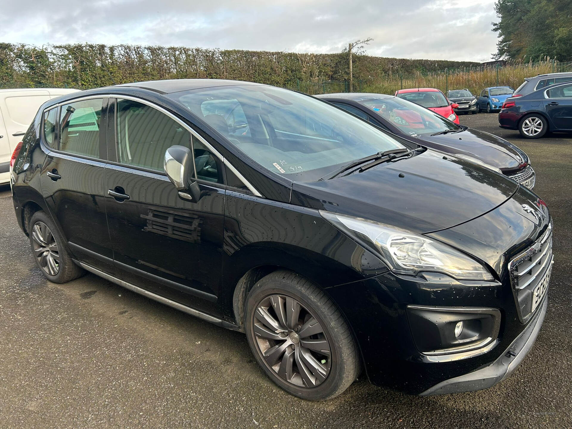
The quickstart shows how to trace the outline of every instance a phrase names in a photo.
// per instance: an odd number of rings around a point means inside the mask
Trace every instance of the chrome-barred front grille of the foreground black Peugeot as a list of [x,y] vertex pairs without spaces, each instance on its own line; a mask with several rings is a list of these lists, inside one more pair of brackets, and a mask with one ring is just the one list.
[[[545,233],[520,255],[509,262],[509,272],[518,317],[526,323],[534,314],[535,289],[547,287],[552,272],[552,222]],[[538,292],[538,291],[537,291]],[[541,305],[537,305],[536,309]]]

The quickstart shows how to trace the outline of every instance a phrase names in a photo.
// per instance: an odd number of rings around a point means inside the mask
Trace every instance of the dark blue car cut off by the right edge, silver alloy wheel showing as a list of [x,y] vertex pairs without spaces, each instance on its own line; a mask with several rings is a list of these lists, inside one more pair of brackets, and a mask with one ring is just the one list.
[[549,131],[572,132],[572,82],[509,98],[499,113],[499,126],[518,129],[525,138],[540,138]]

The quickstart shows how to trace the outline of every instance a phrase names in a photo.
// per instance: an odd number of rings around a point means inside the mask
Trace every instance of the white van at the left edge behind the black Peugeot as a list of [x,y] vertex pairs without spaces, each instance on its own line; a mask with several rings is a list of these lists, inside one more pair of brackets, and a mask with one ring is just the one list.
[[0,185],[10,182],[10,157],[30,126],[39,106],[77,89],[0,89]]

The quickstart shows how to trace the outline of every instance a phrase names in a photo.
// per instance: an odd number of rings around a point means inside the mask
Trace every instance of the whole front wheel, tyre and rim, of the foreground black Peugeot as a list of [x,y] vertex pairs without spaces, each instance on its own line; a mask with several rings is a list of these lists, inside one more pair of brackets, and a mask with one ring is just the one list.
[[358,377],[358,347],[336,305],[290,271],[259,280],[245,305],[248,344],[264,372],[302,399],[341,394]]

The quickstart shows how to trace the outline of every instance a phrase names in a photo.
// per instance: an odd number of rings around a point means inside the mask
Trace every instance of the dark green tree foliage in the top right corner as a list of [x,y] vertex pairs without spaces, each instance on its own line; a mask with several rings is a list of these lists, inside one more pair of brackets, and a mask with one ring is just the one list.
[[572,0],[498,0],[496,59],[572,60]]

